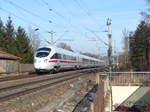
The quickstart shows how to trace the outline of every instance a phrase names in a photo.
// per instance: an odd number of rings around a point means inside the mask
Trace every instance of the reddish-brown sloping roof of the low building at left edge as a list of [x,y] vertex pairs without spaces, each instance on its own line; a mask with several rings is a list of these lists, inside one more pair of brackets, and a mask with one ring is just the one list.
[[13,54],[7,53],[3,50],[0,50],[0,58],[6,58],[6,59],[14,59],[14,60],[20,60],[21,58],[18,56],[15,56]]

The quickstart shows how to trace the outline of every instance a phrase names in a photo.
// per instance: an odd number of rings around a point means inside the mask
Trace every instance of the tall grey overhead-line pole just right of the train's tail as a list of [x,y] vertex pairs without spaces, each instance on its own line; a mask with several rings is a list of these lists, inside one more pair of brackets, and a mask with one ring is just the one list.
[[108,63],[109,63],[109,71],[112,71],[112,32],[111,32],[111,19],[107,19],[107,32],[108,32]]

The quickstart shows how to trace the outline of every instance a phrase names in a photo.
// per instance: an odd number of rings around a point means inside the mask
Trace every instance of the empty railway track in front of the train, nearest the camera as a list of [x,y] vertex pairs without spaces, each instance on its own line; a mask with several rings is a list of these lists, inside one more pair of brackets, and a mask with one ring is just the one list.
[[58,83],[74,79],[83,75],[87,75],[93,72],[99,72],[99,69],[84,69],[67,74],[47,76],[46,78],[42,76],[42,78],[39,80],[36,80],[36,78],[33,77],[33,79],[30,81],[21,81],[16,84],[10,83],[6,86],[1,86],[0,83],[0,102],[28,93],[32,93],[37,90],[41,90],[43,88],[50,87]]

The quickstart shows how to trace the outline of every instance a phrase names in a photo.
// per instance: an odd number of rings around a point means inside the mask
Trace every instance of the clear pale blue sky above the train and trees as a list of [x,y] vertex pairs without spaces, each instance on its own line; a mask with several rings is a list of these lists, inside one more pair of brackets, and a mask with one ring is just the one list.
[[106,54],[107,46],[103,42],[89,41],[97,38],[96,34],[107,42],[103,32],[106,19],[112,19],[113,46],[121,51],[122,30],[134,31],[142,19],[140,12],[148,5],[145,0],[0,0],[0,8],[5,23],[11,16],[15,27],[21,25],[27,32],[29,26],[38,27],[42,41],[50,40],[47,32],[53,30],[55,40],[73,40],[57,43],[65,42],[83,52]]

